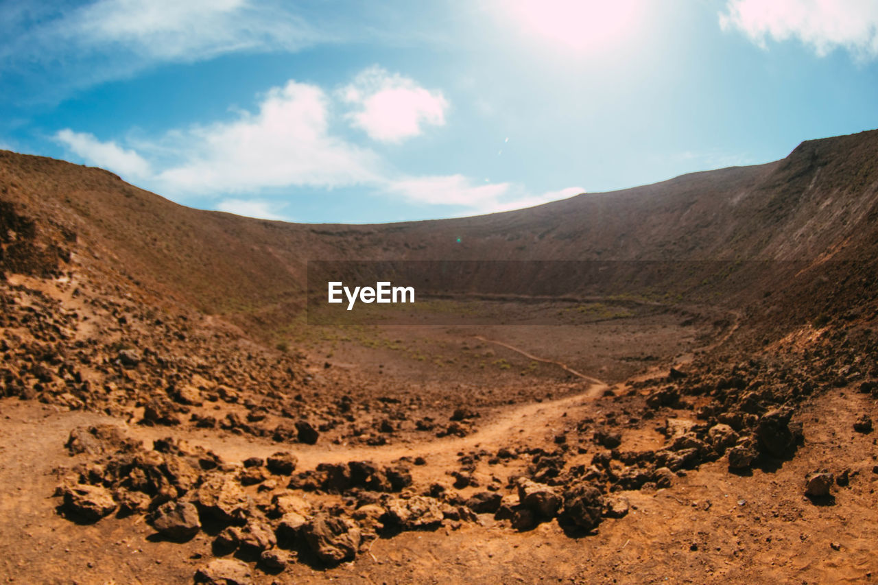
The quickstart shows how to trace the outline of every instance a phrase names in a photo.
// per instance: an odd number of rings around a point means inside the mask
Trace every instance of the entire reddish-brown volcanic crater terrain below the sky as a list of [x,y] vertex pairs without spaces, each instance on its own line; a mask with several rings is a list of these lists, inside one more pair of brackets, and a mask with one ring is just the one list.
[[[876,161],[313,226],[0,151],[0,576],[878,581]],[[313,260],[522,263],[315,325]]]

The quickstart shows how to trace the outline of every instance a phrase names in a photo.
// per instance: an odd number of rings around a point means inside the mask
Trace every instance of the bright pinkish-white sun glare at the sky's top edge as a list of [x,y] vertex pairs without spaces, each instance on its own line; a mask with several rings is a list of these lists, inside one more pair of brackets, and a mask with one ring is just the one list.
[[512,0],[500,10],[524,32],[562,50],[587,54],[630,37],[643,0]]

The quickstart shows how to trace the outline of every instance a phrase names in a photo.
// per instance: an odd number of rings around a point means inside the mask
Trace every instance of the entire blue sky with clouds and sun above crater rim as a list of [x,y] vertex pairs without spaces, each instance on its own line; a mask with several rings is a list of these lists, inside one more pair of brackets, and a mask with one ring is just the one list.
[[0,148],[271,220],[769,162],[876,97],[874,0],[0,0]]

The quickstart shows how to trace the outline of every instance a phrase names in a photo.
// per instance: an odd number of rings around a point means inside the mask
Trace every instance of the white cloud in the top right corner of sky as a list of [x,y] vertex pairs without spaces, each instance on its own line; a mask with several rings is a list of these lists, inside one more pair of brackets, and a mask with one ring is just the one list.
[[766,40],[801,40],[825,55],[838,47],[860,59],[878,57],[878,2],[874,0],[728,0],[723,30],[735,27]]

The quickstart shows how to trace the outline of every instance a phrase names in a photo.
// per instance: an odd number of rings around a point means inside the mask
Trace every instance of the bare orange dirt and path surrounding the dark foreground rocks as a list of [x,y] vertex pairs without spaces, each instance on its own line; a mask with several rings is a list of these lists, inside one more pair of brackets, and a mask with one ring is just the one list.
[[[543,444],[544,427],[536,422],[555,421],[564,412],[594,412],[601,402],[565,399],[539,408],[519,407],[498,417],[495,427],[465,439],[359,451],[315,445],[296,452],[302,468],[333,460],[382,461],[426,454],[428,465],[418,469],[416,482],[443,480],[457,451],[477,445],[490,450],[511,437]],[[717,461],[687,472],[671,489],[626,492],[630,514],[605,521],[593,535],[569,538],[555,523],[518,532],[492,515],[481,515],[483,525],[403,532],[379,538],[353,563],[327,569],[298,564],[283,574],[263,574],[258,581],[871,582],[872,574],[878,574],[873,554],[878,539],[873,513],[878,504],[878,475],[873,473],[878,451],[873,437],[852,430],[864,409],[878,415],[874,401],[849,389],[834,390],[802,409],[810,423],[805,444],[779,469],[735,475]],[[178,545],[150,538],[155,531],[133,517],[81,526],[54,511],[53,470],[71,463],[61,449],[69,430],[118,421],[30,401],[4,401],[2,416],[5,522],[0,538],[6,581],[191,580],[195,568],[210,555],[211,539],[204,533]],[[522,424],[529,430],[515,436],[515,423],[522,418],[529,421]],[[143,427],[126,431],[146,439],[162,435]],[[266,455],[277,448],[270,442],[207,433],[184,437],[229,460]],[[653,440],[660,443],[658,433]],[[836,473],[853,472],[850,486],[838,489],[831,505],[815,505],[802,496],[805,473],[822,466]]]

